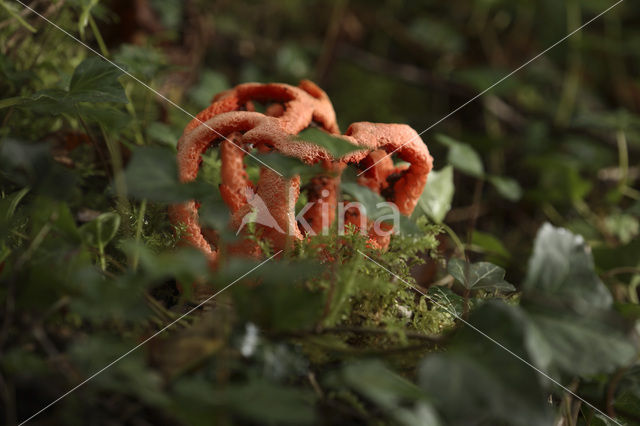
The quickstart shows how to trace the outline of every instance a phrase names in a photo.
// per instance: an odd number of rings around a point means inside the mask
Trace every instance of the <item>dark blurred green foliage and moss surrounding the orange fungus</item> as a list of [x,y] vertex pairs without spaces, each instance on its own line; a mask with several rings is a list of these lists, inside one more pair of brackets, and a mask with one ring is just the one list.
[[437,123],[435,170],[388,252],[326,237],[191,312],[184,283],[257,266],[212,272],[176,247],[167,204],[228,221],[215,152],[180,185],[190,117],[0,0],[0,421],[144,343],[30,423],[640,424],[636,3],[442,122],[614,2],[28,4],[193,114],[242,82],[309,78],[343,131]]

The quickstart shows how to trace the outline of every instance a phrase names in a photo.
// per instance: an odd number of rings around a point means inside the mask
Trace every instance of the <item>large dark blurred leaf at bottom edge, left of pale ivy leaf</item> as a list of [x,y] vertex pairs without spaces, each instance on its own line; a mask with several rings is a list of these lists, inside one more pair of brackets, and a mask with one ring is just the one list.
[[424,359],[419,384],[433,398],[445,423],[551,424],[538,373],[513,355],[528,358],[524,345],[527,320],[522,311],[489,302],[478,307],[469,321],[508,351],[464,327],[447,352]]

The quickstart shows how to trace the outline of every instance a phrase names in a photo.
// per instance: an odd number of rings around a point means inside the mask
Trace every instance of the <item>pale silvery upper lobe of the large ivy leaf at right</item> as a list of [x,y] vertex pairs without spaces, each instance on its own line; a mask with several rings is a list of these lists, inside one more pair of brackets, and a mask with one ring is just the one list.
[[548,223],[536,236],[523,296],[562,301],[585,313],[609,309],[613,302],[595,273],[591,250],[584,239]]

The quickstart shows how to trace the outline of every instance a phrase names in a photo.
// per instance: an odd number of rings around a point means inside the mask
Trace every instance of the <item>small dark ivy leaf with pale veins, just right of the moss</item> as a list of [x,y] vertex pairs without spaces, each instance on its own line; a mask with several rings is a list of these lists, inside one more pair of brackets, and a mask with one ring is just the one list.
[[516,288],[504,280],[505,270],[489,262],[467,263],[451,259],[449,272],[467,290],[515,291]]

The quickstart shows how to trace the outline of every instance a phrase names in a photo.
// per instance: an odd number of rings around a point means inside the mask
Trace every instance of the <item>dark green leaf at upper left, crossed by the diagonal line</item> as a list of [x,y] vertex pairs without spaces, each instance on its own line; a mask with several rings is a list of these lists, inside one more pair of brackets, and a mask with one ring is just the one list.
[[73,102],[129,102],[118,78],[122,71],[99,58],[85,59],[75,69],[68,96]]

